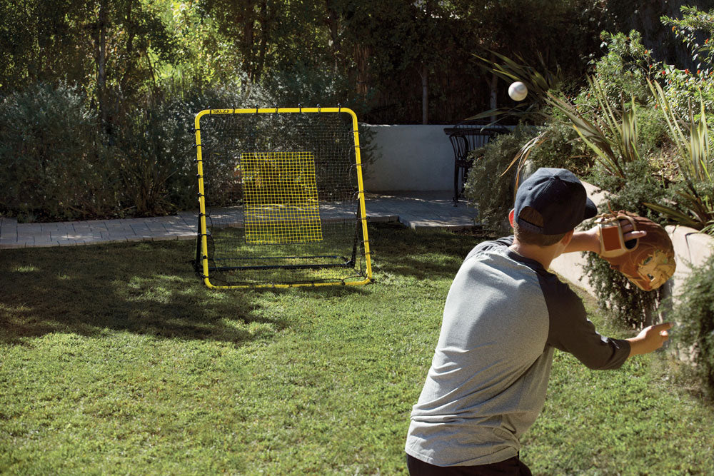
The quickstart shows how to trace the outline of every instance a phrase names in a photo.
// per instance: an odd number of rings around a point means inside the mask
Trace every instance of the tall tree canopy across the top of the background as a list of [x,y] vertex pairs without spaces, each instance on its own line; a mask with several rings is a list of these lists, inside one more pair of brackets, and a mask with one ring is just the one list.
[[76,84],[111,123],[167,84],[251,83],[366,121],[451,123],[509,101],[473,54],[541,55],[578,78],[615,25],[610,3],[0,0],[0,95]]

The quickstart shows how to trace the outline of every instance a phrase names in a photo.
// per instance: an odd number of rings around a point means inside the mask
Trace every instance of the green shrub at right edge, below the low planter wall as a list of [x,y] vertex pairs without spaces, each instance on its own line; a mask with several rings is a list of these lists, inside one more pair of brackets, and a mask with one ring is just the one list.
[[682,285],[685,290],[671,315],[677,323],[673,342],[683,350],[693,350],[695,373],[709,395],[714,395],[714,255],[693,268]]

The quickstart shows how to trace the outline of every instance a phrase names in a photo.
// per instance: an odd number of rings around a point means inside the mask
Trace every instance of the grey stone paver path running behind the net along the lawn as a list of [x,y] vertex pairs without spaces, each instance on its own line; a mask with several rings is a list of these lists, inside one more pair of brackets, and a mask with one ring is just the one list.
[[[463,229],[476,226],[476,211],[460,202],[453,206],[448,191],[366,194],[368,221],[399,221],[417,228]],[[323,219],[353,215],[339,205],[321,207]],[[213,211],[214,223],[234,220],[236,208]],[[188,240],[196,236],[196,211],[183,211],[176,216],[90,220],[57,223],[17,223],[14,218],[0,217],[0,248],[76,246],[91,243],[126,243],[129,241]]]

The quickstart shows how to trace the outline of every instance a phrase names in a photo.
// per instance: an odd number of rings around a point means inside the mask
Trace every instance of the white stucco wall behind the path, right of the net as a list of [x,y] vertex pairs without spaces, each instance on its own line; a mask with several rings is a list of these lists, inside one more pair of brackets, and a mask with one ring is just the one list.
[[364,178],[368,192],[453,190],[453,148],[446,126],[372,126],[375,162]]

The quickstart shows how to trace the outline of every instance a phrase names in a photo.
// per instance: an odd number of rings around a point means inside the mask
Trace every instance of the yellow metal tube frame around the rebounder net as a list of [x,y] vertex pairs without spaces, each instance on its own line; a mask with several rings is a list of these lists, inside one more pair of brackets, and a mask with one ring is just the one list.
[[[357,183],[359,188],[359,209],[360,220],[362,222],[362,236],[364,238],[364,254],[367,276],[361,281],[336,281],[329,283],[295,283],[295,284],[256,284],[256,285],[213,285],[208,275],[208,237],[206,233],[206,197],[203,187],[203,156],[201,154],[201,118],[213,114],[275,114],[275,113],[348,113],[352,118],[352,130],[355,143],[355,160],[357,165]],[[203,283],[208,288],[231,289],[231,288],[295,288],[299,286],[334,286],[334,285],[364,285],[372,281],[372,263],[370,259],[369,239],[367,236],[367,216],[364,206],[364,184],[362,181],[362,161],[359,147],[359,133],[357,115],[350,108],[251,108],[251,109],[204,109],[196,114],[194,120],[196,128],[196,161],[198,166],[198,204],[200,214],[198,216],[201,226],[201,269],[203,270]]]

